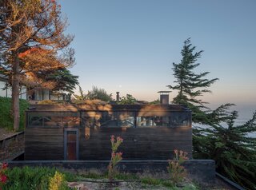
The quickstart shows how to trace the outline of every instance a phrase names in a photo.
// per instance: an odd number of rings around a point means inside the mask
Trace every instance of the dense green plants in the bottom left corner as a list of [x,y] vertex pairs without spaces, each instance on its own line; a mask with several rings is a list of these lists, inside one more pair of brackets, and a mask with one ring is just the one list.
[[[55,168],[46,167],[23,167],[23,168],[9,168],[6,174],[9,176],[9,180],[6,183],[3,190],[45,190],[48,189],[50,185],[50,179],[53,179],[56,172]],[[60,172],[58,172],[60,173]],[[65,174],[66,180],[76,180],[75,175],[70,175],[67,172],[61,172],[62,175]],[[62,185],[59,189],[69,189],[66,184]]]

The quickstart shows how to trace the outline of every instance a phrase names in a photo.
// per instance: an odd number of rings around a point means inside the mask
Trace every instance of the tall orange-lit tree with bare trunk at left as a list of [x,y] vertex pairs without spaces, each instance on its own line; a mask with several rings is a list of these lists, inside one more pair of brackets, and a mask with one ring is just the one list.
[[73,36],[64,34],[66,25],[57,1],[0,1],[0,69],[10,77],[14,129],[19,125],[22,82],[40,82],[38,71],[74,64],[74,50],[69,48]]

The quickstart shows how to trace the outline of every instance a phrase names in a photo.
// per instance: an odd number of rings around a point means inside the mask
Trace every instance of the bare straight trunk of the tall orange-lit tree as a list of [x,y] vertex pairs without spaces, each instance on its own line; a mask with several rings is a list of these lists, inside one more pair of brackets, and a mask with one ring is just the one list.
[[12,111],[14,117],[14,130],[19,127],[19,60],[17,53],[14,53],[14,65],[13,65],[13,77],[12,77]]

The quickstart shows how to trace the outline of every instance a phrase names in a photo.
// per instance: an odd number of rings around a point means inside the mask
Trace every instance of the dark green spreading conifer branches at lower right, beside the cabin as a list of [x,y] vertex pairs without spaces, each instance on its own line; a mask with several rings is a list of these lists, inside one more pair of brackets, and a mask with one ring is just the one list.
[[[226,107],[227,106],[227,107]],[[244,125],[234,125],[238,112],[222,105],[212,116],[217,121],[193,131],[194,157],[215,160],[217,171],[247,189],[256,189],[256,112]],[[222,121],[222,122],[218,122]]]

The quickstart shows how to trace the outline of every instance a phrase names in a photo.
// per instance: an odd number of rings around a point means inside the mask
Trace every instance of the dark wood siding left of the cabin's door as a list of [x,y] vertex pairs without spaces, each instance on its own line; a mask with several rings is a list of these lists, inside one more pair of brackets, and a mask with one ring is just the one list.
[[26,128],[25,160],[63,160],[63,128]]

